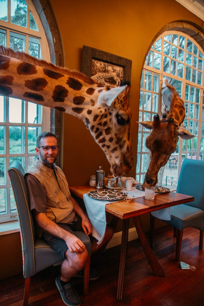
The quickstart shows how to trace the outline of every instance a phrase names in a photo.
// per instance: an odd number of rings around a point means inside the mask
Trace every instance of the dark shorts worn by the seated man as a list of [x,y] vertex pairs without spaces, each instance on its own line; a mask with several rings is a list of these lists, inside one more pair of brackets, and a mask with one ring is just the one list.
[[[72,223],[57,223],[58,226],[63,228],[69,233],[72,233],[74,235],[75,231],[83,231],[82,225],[81,225],[81,218],[79,216],[77,217],[77,221],[73,221]],[[61,238],[57,238],[56,236],[44,231],[42,233],[41,238],[47,242],[47,244],[50,245],[50,247],[56,251],[57,253],[61,254],[65,258],[65,252],[68,249],[68,246],[66,245],[65,241]]]

